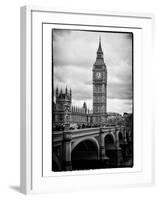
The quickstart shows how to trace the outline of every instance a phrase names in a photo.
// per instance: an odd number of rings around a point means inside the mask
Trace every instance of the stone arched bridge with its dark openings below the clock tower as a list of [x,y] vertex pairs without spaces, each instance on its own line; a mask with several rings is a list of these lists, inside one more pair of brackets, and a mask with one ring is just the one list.
[[[132,129],[108,126],[53,132],[52,170],[132,167]],[[131,162],[127,162],[131,158]]]

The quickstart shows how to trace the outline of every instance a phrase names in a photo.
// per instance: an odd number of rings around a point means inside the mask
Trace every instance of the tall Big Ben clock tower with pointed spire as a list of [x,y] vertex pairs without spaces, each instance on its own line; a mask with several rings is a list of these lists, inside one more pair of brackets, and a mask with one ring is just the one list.
[[93,123],[104,125],[107,116],[107,68],[104,63],[101,39],[93,65]]

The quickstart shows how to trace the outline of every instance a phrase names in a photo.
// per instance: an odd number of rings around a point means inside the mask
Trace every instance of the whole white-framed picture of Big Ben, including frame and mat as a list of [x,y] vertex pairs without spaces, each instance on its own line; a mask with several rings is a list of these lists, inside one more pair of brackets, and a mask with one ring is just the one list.
[[153,17],[21,8],[21,191],[153,183]]

